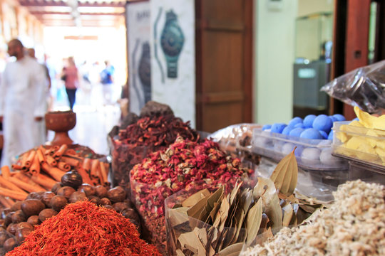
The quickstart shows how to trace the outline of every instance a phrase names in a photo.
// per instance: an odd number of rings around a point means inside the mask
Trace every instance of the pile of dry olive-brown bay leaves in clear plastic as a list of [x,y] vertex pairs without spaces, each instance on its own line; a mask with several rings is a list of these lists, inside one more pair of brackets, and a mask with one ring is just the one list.
[[222,187],[170,196],[165,201],[168,255],[239,255],[242,247],[262,244],[282,227],[299,225],[323,206],[294,196],[297,175],[293,151],[254,188],[239,183],[230,194]]

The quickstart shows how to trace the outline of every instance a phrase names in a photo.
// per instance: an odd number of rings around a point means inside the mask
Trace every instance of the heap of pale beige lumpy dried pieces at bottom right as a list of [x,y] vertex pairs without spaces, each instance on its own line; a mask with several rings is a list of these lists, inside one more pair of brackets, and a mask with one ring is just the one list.
[[385,255],[385,187],[349,181],[333,195],[332,206],[315,212],[307,225],[283,228],[242,255]]

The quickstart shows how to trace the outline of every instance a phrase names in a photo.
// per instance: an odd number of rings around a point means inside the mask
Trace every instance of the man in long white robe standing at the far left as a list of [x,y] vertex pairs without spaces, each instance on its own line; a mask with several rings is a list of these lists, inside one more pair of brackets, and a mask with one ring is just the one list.
[[22,43],[13,39],[8,53],[16,57],[7,63],[0,85],[0,121],[3,122],[4,149],[1,166],[14,157],[46,141],[46,84],[42,66],[24,54]]

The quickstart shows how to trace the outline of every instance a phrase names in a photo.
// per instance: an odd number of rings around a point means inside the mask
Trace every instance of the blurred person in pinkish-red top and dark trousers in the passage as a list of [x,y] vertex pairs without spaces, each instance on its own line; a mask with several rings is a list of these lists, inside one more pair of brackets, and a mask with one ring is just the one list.
[[64,66],[62,70],[61,80],[64,81],[64,85],[66,86],[69,107],[72,110],[76,101],[76,90],[79,85],[78,68],[76,68],[73,57],[68,57],[68,64]]

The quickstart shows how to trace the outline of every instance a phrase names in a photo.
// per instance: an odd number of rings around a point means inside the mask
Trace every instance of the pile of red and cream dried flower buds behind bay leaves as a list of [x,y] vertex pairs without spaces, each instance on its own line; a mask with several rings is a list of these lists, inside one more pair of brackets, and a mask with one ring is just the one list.
[[[242,169],[239,159],[232,159],[210,140],[197,143],[178,137],[163,151],[148,156],[131,171],[131,195],[150,241],[165,246],[165,198],[185,189],[196,192],[202,188],[219,188],[237,183],[252,174]],[[228,188],[231,190],[232,188]]]

